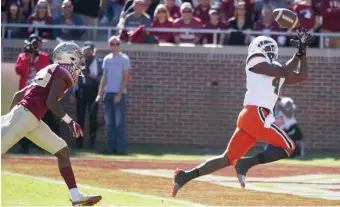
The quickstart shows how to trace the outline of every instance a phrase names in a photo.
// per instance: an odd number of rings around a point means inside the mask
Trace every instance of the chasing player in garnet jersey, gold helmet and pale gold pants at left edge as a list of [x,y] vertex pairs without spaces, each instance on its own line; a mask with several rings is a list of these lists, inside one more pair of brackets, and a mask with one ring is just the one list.
[[63,111],[59,100],[77,82],[85,63],[84,54],[75,43],[62,42],[53,51],[53,61],[37,73],[30,85],[15,93],[10,112],[1,117],[1,154],[27,137],[58,158],[59,171],[70,190],[72,205],[93,205],[102,197],[79,192],[66,142],[41,120],[49,109],[67,123],[74,137],[83,135],[79,124]]

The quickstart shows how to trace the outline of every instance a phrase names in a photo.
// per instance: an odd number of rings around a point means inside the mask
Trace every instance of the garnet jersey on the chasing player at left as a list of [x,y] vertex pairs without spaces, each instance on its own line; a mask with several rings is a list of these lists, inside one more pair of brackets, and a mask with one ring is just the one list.
[[[74,79],[68,72],[72,70],[72,65],[60,63],[52,64],[41,69],[32,83],[27,86],[24,98],[18,104],[23,105],[40,120],[47,111],[46,101],[52,82],[59,78],[63,79],[66,83],[65,93],[74,83]],[[60,93],[62,93],[62,91]]]

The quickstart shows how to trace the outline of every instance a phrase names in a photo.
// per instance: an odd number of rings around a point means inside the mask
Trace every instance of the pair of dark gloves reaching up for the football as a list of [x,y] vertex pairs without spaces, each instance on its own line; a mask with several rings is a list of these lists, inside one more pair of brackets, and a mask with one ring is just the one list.
[[296,37],[296,40],[291,39],[290,42],[298,49],[296,56],[301,58],[302,56],[306,55],[306,48],[313,43],[315,35],[307,32],[306,29],[300,29],[297,31]]

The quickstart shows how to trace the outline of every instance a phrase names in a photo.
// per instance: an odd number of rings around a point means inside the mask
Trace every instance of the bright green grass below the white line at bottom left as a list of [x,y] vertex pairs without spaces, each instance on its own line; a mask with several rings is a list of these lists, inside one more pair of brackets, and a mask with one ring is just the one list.
[[[69,206],[69,193],[63,181],[20,174],[1,175],[2,206]],[[189,206],[185,202],[158,197],[133,195],[110,189],[79,186],[82,192],[101,194],[105,206]],[[23,195],[25,195],[23,197]]]

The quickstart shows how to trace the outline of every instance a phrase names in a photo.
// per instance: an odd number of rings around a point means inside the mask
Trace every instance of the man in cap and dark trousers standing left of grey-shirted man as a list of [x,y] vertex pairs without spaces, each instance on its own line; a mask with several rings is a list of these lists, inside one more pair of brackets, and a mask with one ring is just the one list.
[[[82,129],[85,129],[86,111],[89,115],[89,134],[90,139],[89,148],[95,147],[96,134],[97,134],[97,114],[98,104],[95,102],[98,87],[102,72],[102,59],[96,57],[94,44],[91,41],[84,43],[83,51],[85,54],[85,69],[83,76],[79,76],[77,87],[74,88],[73,94],[70,96],[71,103],[76,102],[77,108],[77,122]],[[77,148],[83,148],[84,138],[79,137],[76,139]]]

